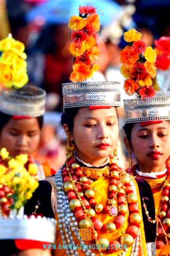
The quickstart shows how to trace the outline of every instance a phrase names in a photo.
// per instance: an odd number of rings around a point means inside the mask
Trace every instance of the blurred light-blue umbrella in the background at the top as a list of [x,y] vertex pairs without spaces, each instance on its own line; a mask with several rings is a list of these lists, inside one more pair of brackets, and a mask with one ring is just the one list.
[[80,5],[97,7],[100,22],[105,26],[111,24],[121,11],[121,6],[113,0],[48,0],[30,10],[26,19],[31,22],[39,16],[43,17],[46,23],[68,23],[72,15],[79,15]]

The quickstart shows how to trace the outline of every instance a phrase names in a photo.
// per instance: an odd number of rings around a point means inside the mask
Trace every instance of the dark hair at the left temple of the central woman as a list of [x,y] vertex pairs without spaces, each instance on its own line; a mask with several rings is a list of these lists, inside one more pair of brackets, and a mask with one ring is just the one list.
[[61,116],[61,125],[63,127],[63,124],[67,124],[69,127],[69,130],[73,129],[74,124],[74,117],[79,111],[79,107],[72,107],[70,109],[65,109]]

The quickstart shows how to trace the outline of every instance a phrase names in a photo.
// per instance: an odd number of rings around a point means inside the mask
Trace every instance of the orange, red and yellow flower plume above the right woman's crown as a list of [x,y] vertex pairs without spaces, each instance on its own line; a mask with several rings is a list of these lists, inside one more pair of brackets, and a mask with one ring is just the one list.
[[142,34],[134,28],[124,33],[128,45],[121,51],[121,74],[126,78],[124,90],[131,96],[154,97],[152,79],[156,76],[156,51],[141,40]]

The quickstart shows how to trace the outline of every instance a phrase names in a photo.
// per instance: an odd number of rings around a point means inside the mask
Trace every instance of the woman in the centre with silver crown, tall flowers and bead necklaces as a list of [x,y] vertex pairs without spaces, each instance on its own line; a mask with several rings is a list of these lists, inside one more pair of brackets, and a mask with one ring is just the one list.
[[100,23],[95,8],[79,12],[69,21],[75,83],[62,85],[67,159],[48,182],[40,181],[25,213],[39,201],[37,214],[56,216],[55,255],[147,255],[138,186],[117,161],[119,83],[84,82],[96,69]]

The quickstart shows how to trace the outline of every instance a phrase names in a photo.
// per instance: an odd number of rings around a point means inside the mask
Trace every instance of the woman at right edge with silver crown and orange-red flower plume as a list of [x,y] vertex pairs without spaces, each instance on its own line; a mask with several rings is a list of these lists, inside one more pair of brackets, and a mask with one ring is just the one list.
[[[138,36],[134,29],[127,31],[124,39],[130,45],[121,53],[124,89],[140,96],[124,100],[126,146],[137,162],[127,172],[136,177],[140,190],[147,254],[170,255],[170,96],[155,96],[151,78],[156,75],[156,53]],[[131,66],[129,53],[136,54]],[[143,181],[145,189],[140,187]]]

